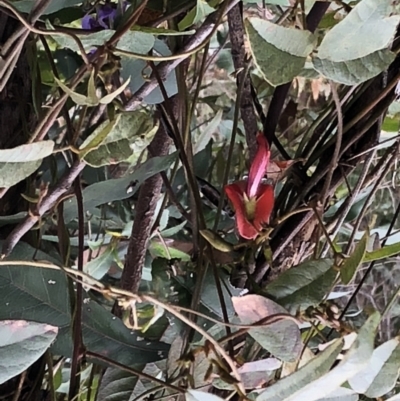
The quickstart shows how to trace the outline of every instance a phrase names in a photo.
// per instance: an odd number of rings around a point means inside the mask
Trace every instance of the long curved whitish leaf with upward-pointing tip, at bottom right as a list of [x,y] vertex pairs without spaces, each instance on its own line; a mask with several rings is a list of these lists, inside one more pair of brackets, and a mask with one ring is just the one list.
[[[343,357],[343,360],[322,377],[302,386],[301,390],[292,392],[289,397],[285,398],[285,401],[315,401],[329,396],[364,369],[368,365],[374,350],[374,340],[380,319],[378,312],[372,314],[361,327],[356,340]],[[267,398],[263,398],[263,400],[267,400]]]

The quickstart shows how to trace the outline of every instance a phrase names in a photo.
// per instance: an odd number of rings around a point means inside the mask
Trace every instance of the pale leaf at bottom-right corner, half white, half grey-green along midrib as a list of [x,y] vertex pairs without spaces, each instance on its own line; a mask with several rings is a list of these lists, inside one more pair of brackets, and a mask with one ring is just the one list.
[[368,366],[349,380],[351,388],[369,398],[391,391],[399,377],[400,342],[393,338],[376,348]]

